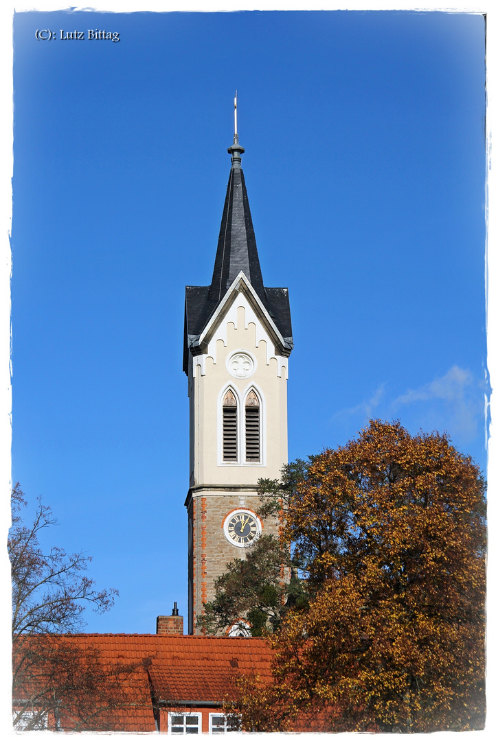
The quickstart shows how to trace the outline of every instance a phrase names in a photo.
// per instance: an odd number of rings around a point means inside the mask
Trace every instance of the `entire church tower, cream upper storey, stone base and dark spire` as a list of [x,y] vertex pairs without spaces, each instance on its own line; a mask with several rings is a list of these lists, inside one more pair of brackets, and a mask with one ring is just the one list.
[[261,532],[258,479],[287,462],[289,295],[267,288],[235,136],[211,285],[187,286],[183,370],[189,378],[189,634],[214,579]]

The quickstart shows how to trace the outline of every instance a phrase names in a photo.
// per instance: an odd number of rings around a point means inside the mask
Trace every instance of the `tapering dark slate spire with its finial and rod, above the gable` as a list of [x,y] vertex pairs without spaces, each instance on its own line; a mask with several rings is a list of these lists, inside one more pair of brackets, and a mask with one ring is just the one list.
[[237,93],[234,100],[234,143],[228,148],[232,155],[229,184],[226,189],[225,205],[221,217],[220,235],[214,270],[209,290],[209,298],[220,302],[232,285],[240,270],[249,280],[252,288],[264,300],[263,276],[256,247],[256,237],[252,226],[249,199],[244,180],[241,154],[244,149],[239,144],[237,132]]

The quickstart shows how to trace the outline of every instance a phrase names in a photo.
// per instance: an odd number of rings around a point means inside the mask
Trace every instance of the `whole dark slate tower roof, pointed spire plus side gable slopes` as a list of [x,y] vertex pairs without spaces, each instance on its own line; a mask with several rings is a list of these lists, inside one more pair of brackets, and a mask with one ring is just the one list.
[[221,217],[212,282],[208,286],[186,286],[183,370],[187,374],[189,352],[196,355],[202,351],[199,347],[200,334],[240,271],[249,280],[284,338],[284,345],[279,351],[283,355],[289,355],[292,350],[288,290],[263,285],[246,182],[240,166],[240,155],[244,150],[239,144],[237,133],[228,152],[232,155],[232,167]]

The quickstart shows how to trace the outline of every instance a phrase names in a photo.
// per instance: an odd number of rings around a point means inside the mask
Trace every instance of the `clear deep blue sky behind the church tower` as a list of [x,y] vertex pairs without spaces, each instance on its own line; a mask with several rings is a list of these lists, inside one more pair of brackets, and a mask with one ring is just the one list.
[[16,13],[13,480],[119,589],[89,631],[187,613],[183,292],[211,279],[236,88],[263,279],[289,287],[289,458],[378,416],[485,467],[484,34],[464,13]]

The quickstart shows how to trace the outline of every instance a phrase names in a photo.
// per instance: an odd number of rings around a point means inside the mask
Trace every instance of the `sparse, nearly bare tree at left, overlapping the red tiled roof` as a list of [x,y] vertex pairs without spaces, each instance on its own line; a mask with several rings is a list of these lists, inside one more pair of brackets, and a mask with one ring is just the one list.
[[[86,575],[89,556],[42,548],[40,534],[56,523],[39,499],[32,523],[22,517],[26,499],[12,493],[8,553],[12,568],[13,722],[18,730],[45,728],[47,717],[71,730],[119,730],[115,711],[150,702],[129,688],[142,686],[142,665],[102,660],[88,643],[71,640],[85,625],[83,612],[111,608],[117,591],[97,591]],[[143,695],[143,697],[142,697]]]

